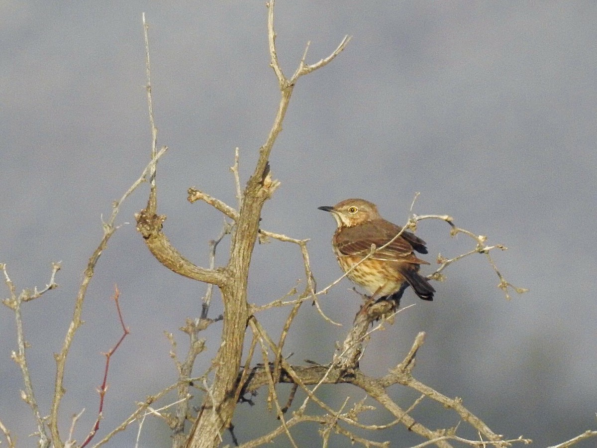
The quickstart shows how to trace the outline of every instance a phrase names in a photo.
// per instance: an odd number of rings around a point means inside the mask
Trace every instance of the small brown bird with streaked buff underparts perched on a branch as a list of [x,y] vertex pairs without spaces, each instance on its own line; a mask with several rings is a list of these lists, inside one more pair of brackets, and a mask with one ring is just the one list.
[[[421,299],[433,300],[435,289],[418,273],[421,265],[429,263],[414,254],[427,253],[425,241],[383,219],[373,202],[347,199],[318,208],[329,211],[336,220],[332,247],[340,268],[364,287],[371,299],[393,300],[399,305],[404,290],[411,286]],[[372,244],[376,250],[369,256]]]

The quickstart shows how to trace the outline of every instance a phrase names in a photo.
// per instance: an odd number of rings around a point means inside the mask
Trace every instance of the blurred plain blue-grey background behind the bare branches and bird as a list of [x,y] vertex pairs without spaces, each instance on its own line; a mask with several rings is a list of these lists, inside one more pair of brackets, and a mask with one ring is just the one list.
[[[149,160],[141,13],[150,24],[153,102],[159,145],[159,213],[165,234],[184,256],[207,265],[208,240],[223,217],[204,203],[189,204],[195,186],[230,205],[229,167],[241,154],[246,182],[279,101],[269,67],[266,8],[250,2],[106,1],[101,4],[5,1],[0,5],[0,262],[17,290],[48,283],[61,261],[60,287],[23,305],[24,331],[36,398],[49,413],[55,363],[73,303],[99,244],[102,217],[139,177]],[[344,35],[352,41],[331,65],[301,78],[284,131],[273,149],[272,173],[282,185],[263,212],[263,228],[310,238],[319,289],[340,275],[330,246],[335,224],[319,205],[349,197],[378,204],[405,223],[416,192],[417,214],[450,214],[457,225],[488,235],[500,272],[530,292],[506,300],[484,256],[451,266],[431,303],[408,290],[415,306],[377,332],[361,368],[384,375],[399,363],[417,332],[427,333],[414,376],[464,406],[506,438],[533,446],[561,443],[597,429],[595,267],[597,232],[597,5],[592,2],[338,2],[276,4],[278,55],[290,76],[307,41],[307,62],[328,56]],[[113,301],[131,334],[112,358],[109,390],[96,440],[143,401],[176,381],[164,332],[187,341],[179,327],[197,317],[205,286],[180,278],[152,258],[133,213],[144,207],[142,186],[121,208],[121,228],[101,256],[72,345],[61,434],[85,409],[75,438],[97,418],[107,352],[121,335]],[[465,235],[426,220],[417,234],[434,262],[474,247]],[[219,246],[226,260],[228,241]],[[250,300],[263,305],[303,279],[298,247],[273,241],[256,246]],[[427,267],[431,272],[433,267]],[[304,284],[299,284],[302,289]],[[343,280],[322,297],[331,326],[304,306],[285,354],[325,364],[358,311],[359,297]],[[3,287],[1,297],[8,297]],[[289,309],[259,315],[278,337]],[[214,297],[211,315],[221,312]],[[196,373],[209,366],[221,327],[205,337]],[[20,399],[23,381],[10,360],[16,350],[13,313],[0,312],[0,421],[18,446],[36,446],[32,413]],[[281,386],[281,396],[284,391]],[[364,397],[342,387],[322,389],[341,406]],[[390,389],[404,408],[417,394]],[[241,405],[235,434],[244,442],[276,425]],[[174,400],[174,397],[170,401]],[[302,402],[302,398],[298,403]],[[165,401],[162,404],[166,404]],[[198,404],[195,401],[195,404]],[[373,402],[368,402],[374,404]],[[315,410],[313,410],[315,412]],[[423,401],[413,416],[430,428],[458,424],[455,413]],[[392,421],[371,412],[363,422]],[[475,438],[463,428],[463,435]],[[272,426],[273,427],[273,426]],[[133,446],[138,425],[110,446]],[[301,446],[319,446],[318,426],[298,427]],[[362,434],[364,435],[364,434]],[[370,435],[392,446],[421,443],[403,426]],[[226,434],[224,442],[230,443]],[[594,447],[595,439],[577,446]],[[140,446],[170,444],[167,426],[148,418]],[[279,438],[276,446],[288,446]],[[338,435],[331,446],[349,446]]]

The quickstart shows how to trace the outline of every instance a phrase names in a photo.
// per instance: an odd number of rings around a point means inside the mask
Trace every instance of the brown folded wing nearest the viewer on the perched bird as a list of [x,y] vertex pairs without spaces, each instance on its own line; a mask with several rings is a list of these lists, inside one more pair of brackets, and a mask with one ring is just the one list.
[[[375,244],[377,248],[380,248],[398,235],[398,232],[400,232],[400,228],[387,221],[381,223],[367,222],[356,227],[342,229],[336,235],[335,242],[337,250],[341,254],[365,257],[371,250],[371,244]],[[410,235],[417,238],[413,234]],[[417,240],[419,239],[417,238]],[[420,243],[417,241],[417,244]],[[402,235],[392,241],[389,246],[377,250],[371,258],[404,263],[429,264],[414,256],[413,246]]]

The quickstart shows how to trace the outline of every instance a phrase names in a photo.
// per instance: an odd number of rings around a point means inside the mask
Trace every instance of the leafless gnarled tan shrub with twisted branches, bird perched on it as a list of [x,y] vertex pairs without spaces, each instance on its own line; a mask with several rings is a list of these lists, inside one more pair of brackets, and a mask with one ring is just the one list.
[[[430,446],[432,444],[444,448],[455,446],[455,444],[458,444],[458,446],[505,447],[511,446],[516,442],[530,443],[530,440],[522,437],[504,438],[503,435],[494,432],[481,418],[473,415],[473,413],[467,410],[463,404],[463,400],[460,398],[448,397],[414,378],[414,361],[416,359],[417,351],[423,346],[425,339],[424,333],[419,333],[417,335],[404,360],[396,366],[391,366],[390,372],[387,373],[387,375],[375,378],[373,376],[365,375],[365,373],[362,372],[359,366],[359,361],[361,360],[362,353],[368,340],[370,340],[371,337],[375,337],[374,333],[377,330],[392,323],[396,312],[398,312],[395,309],[395,304],[392,302],[382,300],[372,305],[364,306],[359,310],[356,314],[353,326],[349,332],[347,332],[343,342],[341,342],[334,351],[330,352],[330,363],[328,364],[291,364],[287,358],[283,356],[288,331],[294,322],[294,318],[300,311],[301,306],[303,306],[304,303],[307,303],[308,305],[311,303],[315,304],[324,319],[330,321],[330,319],[323,314],[321,308],[319,308],[319,297],[337,284],[341,278],[346,276],[346,274],[324,289],[316,291],[315,276],[311,271],[309,263],[307,240],[298,240],[260,228],[260,216],[263,205],[272,197],[272,194],[279,186],[278,180],[273,178],[272,168],[269,164],[270,153],[273,150],[276,137],[278,137],[278,134],[282,130],[282,122],[284,121],[298,79],[300,79],[301,76],[308,75],[310,72],[321,69],[332,62],[334,58],[346,48],[350,38],[349,36],[344,37],[330,56],[313,64],[306,62],[307,50],[309,49],[309,45],[307,44],[303,57],[298,62],[297,69],[289,78],[284,74],[276,54],[274,0],[270,0],[267,6],[267,35],[269,41],[270,64],[278,79],[281,98],[269,135],[263,146],[259,149],[259,159],[254,167],[253,174],[251,174],[250,179],[248,179],[244,189],[242,189],[238,170],[239,153],[237,150],[232,166],[235,180],[234,186],[238,199],[236,208],[195,188],[190,188],[188,191],[188,200],[190,202],[207,202],[207,204],[210,204],[223,213],[228,220],[224,224],[219,237],[210,243],[210,265],[207,268],[197,266],[190,260],[187,260],[180,251],[170,243],[164,234],[163,225],[165,216],[158,214],[156,166],[158,159],[167,151],[167,148],[164,146],[161,149],[158,149],[151,93],[149,39],[147,37],[147,25],[143,17],[146,38],[147,103],[152,129],[150,161],[149,164],[147,164],[147,167],[143,170],[143,173],[141,173],[139,179],[123,195],[121,200],[115,202],[113,205],[112,216],[106,223],[104,223],[104,236],[100,241],[99,246],[90,257],[87,268],[85,269],[84,278],[75,300],[73,319],[67,330],[61,351],[56,355],[57,370],[54,383],[54,398],[48,418],[42,416],[42,413],[39,410],[39,406],[35,399],[35,391],[33,390],[30,381],[29,367],[27,366],[26,358],[27,346],[23,336],[20,311],[23,303],[36,299],[45,292],[56,287],[54,278],[57,271],[60,269],[60,265],[57,263],[53,265],[51,278],[45,289],[40,291],[24,290],[20,294],[17,294],[16,287],[11,282],[6,266],[2,265],[5,283],[11,294],[10,298],[4,300],[4,303],[14,311],[17,322],[18,349],[14,352],[13,359],[19,365],[23,375],[25,388],[23,392],[23,400],[25,400],[32,409],[38,430],[36,435],[39,438],[39,446],[63,447],[75,445],[72,438],[72,429],[76,424],[78,416],[75,416],[75,418],[72,419],[71,431],[66,440],[60,435],[58,430],[60,402],[64,394],[63,379],[67,356],[69,354],[70,345],[76,335],[76,331],[79,326],[81,326],[81,312],[84,305],[85,293],[88,284],[93,278],[97,260],[106,247],[107,241],[117,229],[115,219],[119,207],[122,204],[122,201],[126,200],[144,181],[150,183],[149,198],[147,200],[146,208],[136,214],[137,229],[142,235],[144,243],[153,256],[166,268],[184,277],[207,283],[210,285],[210,288],[204,297],[201,317],[194,320],[188,320],[183,327],[183,331],[186,332],[190,340],[189,350],[183,358],[179,358],[176,355],[176,352],[174,351],[174,348],[176,348],[176,341],[173,336],[170,336],[171,343],[173,344],[173,358],[179,372],[179,381],[168,388],[165,388],[163,391],[148,397],[139,405],[137,410],[130,417],[122,422],[121,425],[114,428],[101,440],[95,441],[94,437],[99,428],[101,417],[100,404],[100,412],[96,425],[82,446],[90,444],[92,441],[96,442],[94,446],[108,443],[114,434],[124,431],[124,429],[128,428],[131,422],[143,418],[147,410],[153,409],[152,406],[154,403],[158,403],[165,394],[173,390],[176,390],[179,400],[167,407],[174,407],[174,412],[171,412],[170,410],[162,410],[161,412],[161,416],[165,418],[165,421],[167,421],[172,429],[173,447],[186,446],[198,448],[220,446],[224,431],[230,431],[233,438],[235,438],[232,424],[233,416],[235,415],[239,403],[250,400],[250,398],[247,397],[251,397],[251,395],[255,394],[259,389],[266,389],[267,401],[274,407],[275,416],[278,419],[279,424],[277,424],[276,428],[272,431],[267,431],[253,440],[243,444],[237,443],[238,446],[244,448],[266,445],[272,442],[277,443],[281,438],[285,438],[285,443],[290,443],[291,446],[301,446],[301,444],[294,439],[290,429],[296,425],[303,424],[304,422],[317,422],[321,425],[319,433],[321,435],[322,446],[324,447],[328,446],[330,443],[332,434],[340,434],[340,437],[346,438],[346,444],[356,443],[365,447],[389,446],[389,442],[387,441],[378,442],[373,440],[373,438],[362,437],[359,435],[361,432],[357,433],[355,430],[358,429],[359,431],[365,431],[366,433],[375,433],[396,426],[404,426],[404,431],[413,431],[420,435],[421,443],[418,444],[417,447]],[[481,253],[487,258],[491,269],[496,272],[500,281],[499,287],[504,291],[506,297],[509,297],[510,290],[515,290],[518,293],[524,292],[524,289],[516,288],[504,279],[490,255],[493,250],[504,250],[504,246],[500,244],[492,246],[487,245],[486,237],[473,234],[472,232],[457,227],[450,216],[417,216],[412,213],[412,209],[411,216],[408,219],[408,222],[405,223],[403,229],[414,230],[417,223],[424,219],[442,220],[448,224],[450,235],[465,234],[472,239],[472,248],[470,251],[451,259],[438,257],[439,267],[433,274],[429,275],[430,279],[442,280],[444,275],[443,271],[450,266],[451,263],[457,262],[463,257],[471,254]],[[216,267],[215,259],[217,245],[223,238],[226,238],[227,235],[230,235],[230,253],[227,262],[223,266]],[[399,235],[400,234],[396,235],[396,238],[398,238]],[[247,300],[247,283],[251,255],[253,254],[256,242],[266,238],[273,238],[297,246],[297,250],[300,251],[303,259],[305,286],[300,293],[291,291],[291,293],[288,294],[288,297],[274,300],[267,305],[255,306],[251,305]],[[372,256],[381,248],[371,247],[369,256]],[[216,286],[220,290],[221,299],[223,300],[224,305],[223,315],[216,318],[209,317],[213,286]],[[115,299],[118,307],[118,291],[115,294]],[[261,324],[261,315],[267,315],[267,311],[279,307],[287,308],[288,315],[284,323],[282,323],[281,336],[278,340],[274,340]],[[119,342],[116,343],[113,349],[107,354],[106,375],[109,367],[110,355],[118,348],[119,343],[127,335],[127,328],[119,309],[118,316],[122,323],[123,335]],[[210,367],[202,373],[202,375],[193,378],[192,370],[193,366],[195,366],[195,361],[205,349],[206,341],[200,337],[201,332],[207,329],[207,327],[215,321],[220,320],[222,330],[217,354],[213,360],[211,360],[211,363],[209,363]],[[247,344],[245,344],[245,336],[250,339],[248,350],[245,349],[247,346]],[[211,341],[211,343],[217,345],[216,341]],[[290,397],[288,397],[287,400],[282,400],[282,398],[279,397],[279,390],[276,388],[276,385],[279,383],[290,383],[292,385]],[[385,409],[389,415],[392,416],[393,420],[387,424],[363,424],[359,422],[359,417],[371,410],[371,406],[365,404],[363,401],[349,403],[349,400],[347,399],[339,409],[334,409],[321,397],[319,389],[321,388],[321,385],[324,384],[337,385],[342,383],[350,384],[356,388],[362,389],[371,400],[375,401],[378,406]],[[103,393],[105,392],[105,385],[106,382],[104,376],[104,383],[100,389],[100,396],[102,399]],[[388,394],[387,389],[392,385],[402,385],[413,389],[418,393],[418,398],[413,401],[411,406],[404,409]],[[304,395],[300,404],[295,403],[295,401],[298,401],[298,399],[296,399],[297,391],[301,391],[301,395]],[[193,394],[197,393],[201,395],[201,406],[199,407],[199,411],[195,413],[190,405],[190,398]],[[423,400],[435,401],[444,406],[445,409],[447,409],[447,413],[456,413],[457,418],[461,422],[460,425],[469,425],[472,427],[478,434],[478,439],[470,440],[461,436],[459,425],[432,429],[426,422],[415,420],[411,416],[411,411]],[[307,404],[310,403],[315,404],[315,409],[318,410],[317,412],[313,412],[312,410],[307,411]],[[293,412],[289,413],[287,412],[288,410],[292,410]],[[447,419],[447,421],[448,420],[449,419]],[[187,431],[191,426],[189,422],[192,424],[192,428],[190,431]],[[1,421],[0,431],[4,434],[8,446],[16,446],[11,438],[10,431]],[[596,435],[595,431],[589,431],[558,446],[571,446],[578,440],[593,437],[594,435]]]

